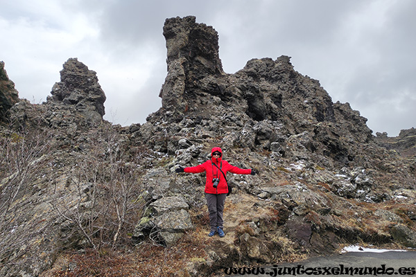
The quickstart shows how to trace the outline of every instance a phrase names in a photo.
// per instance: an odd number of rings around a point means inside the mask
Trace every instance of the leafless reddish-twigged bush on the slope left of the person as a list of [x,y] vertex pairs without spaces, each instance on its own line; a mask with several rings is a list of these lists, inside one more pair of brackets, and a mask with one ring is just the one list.
[[54,206],[94,248],[115,247],[134,229],[140,200],[141,155],[131,155],[123,136],[110,125],[92,129],[87,148],[72,170],[76,204],[57,197]]

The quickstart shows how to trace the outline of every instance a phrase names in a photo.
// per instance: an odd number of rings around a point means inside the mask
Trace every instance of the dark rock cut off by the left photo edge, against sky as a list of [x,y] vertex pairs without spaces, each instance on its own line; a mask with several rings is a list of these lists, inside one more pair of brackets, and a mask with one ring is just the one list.
[[9,80],[4,62],[0,62],[0,122],[6,121],[8,110],[19,102],[19,93],[15,83]]

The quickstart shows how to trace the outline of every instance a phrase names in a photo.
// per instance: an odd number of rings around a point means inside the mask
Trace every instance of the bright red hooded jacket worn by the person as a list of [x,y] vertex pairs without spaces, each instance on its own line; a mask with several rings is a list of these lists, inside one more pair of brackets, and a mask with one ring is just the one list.
[[[220,152],[221,157],[218,159],[214,159],[212,157],[212,153],[214,152]],[[228,186],[227,182],[225,181],[225,178],[223,176],[223,173],[220,172],[218,168],[221,168],[223,170],[224,174],[227,175],[227,171],[235,173],[235,174],[251,174],[251,169],[241,169],[237,168],[236,166],[230,165],[227,161],[223,161],[223,150],[221,148],[212,148],[211,150],[211,161],[206,161],[205,163],[200,164],[199,166],[192,166],[190,168],[184,168],[184,172],[188,173],[200,173],[200,172],[207,172],[207,181],[205,183],[205,193],[211,193],[211,194],[220,194],[220,193],[228,193]],[[215,163],[216,166],[214,166]],[[220,182],[218,183],[218,186],[214,188],[212,179],[218,178],[220,179]]]

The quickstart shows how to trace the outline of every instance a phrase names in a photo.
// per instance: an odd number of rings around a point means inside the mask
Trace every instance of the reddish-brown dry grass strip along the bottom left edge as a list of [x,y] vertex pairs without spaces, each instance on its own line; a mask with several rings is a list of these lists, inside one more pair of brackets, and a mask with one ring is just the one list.
[[64,253],[44,277],[92,276],[181,276],[188,275],[187,264],[205,260],[209,244],[203,231],[196,229],[184,235],[173,247],[144,243],[123,250],[89,250],[85,253]]

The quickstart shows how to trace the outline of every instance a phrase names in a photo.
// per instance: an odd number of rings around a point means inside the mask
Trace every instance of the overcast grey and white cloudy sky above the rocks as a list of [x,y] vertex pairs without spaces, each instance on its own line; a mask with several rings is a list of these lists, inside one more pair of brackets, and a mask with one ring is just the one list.
[[226,73],[288,55],[374,134],[416,127],[415,0],[0,0],[0,60],[40,103],[78,57],[107,96],[104,118],[144,123],[162,105],[164,21],[187,15],[218,32]]

